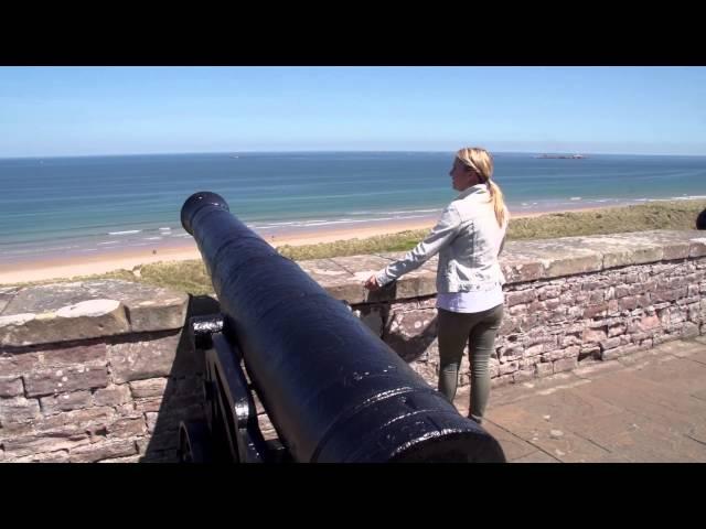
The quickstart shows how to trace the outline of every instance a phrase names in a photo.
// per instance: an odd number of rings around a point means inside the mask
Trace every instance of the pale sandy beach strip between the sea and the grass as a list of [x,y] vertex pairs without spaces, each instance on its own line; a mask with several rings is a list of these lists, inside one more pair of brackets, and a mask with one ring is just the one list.
[[[598,207],[577,208],[578,210],[602,209]],[[514,218],[535,217],[546,213],[513,215]],[[270,245],[301,246],[319,242],[332,242],[335,240],[364,239],[376,235],[395,234],[410,229],[429,229],[434,226],[436,217],[415,219],[408,222],[372,223],[353,228],[322,227],[308,231],[281,233],[275,236],[264,235],[263,238]],[[201,255],[192,239],[183,239],[179,246],[140,248],[125,250],[105,250],[90,256],[66,256],[51,259],[39,259],[30,262],[0,264],[0,284],[17,284],[31,281],[44,281],[51,279],[66,279],[81,276],[105,273],[114,270],[133,270],[141,264],[159,261],[180,261],[201,259]]]

